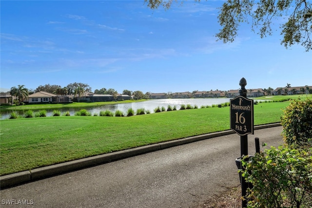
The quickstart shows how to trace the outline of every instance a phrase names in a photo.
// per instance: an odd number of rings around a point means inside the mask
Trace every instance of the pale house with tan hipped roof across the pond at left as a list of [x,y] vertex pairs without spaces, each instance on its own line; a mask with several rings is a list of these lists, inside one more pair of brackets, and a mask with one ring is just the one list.
[[32,95],[28,95],[26,98],[28,103],[68,103],[71,102],[67,95],[55,95],[53,93],[47,93],[40,91]]

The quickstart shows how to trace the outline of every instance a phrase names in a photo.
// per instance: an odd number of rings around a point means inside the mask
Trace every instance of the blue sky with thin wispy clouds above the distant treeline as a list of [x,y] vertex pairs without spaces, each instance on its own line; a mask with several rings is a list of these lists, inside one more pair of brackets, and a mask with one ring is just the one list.
[[[143,0],[1,0],[0,87],[81,82],[143,93],[312,85],[312,56],[242,25],[215,41],[222,1],[151,10]],[[276,20],[276,25],[279,23]],[[278,28],[277,28],[278,29]]]

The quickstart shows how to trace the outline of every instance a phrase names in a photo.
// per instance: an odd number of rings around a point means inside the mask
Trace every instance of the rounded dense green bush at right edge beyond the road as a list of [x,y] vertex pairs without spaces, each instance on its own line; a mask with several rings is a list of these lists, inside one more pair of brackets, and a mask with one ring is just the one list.
[[283,138],[288,145],[301,145],[312,138],[312,99],[292,100],[281,116]]

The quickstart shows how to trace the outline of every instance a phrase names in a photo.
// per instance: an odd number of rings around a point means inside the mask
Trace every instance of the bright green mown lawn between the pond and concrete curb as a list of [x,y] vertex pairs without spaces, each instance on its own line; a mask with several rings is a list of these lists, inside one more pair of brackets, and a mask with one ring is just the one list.
[[[287,102],[254,105],[254,125],[280,122]],[[0,121],[0,175],[230,129],[230,107],[131,117],[59,116]]]

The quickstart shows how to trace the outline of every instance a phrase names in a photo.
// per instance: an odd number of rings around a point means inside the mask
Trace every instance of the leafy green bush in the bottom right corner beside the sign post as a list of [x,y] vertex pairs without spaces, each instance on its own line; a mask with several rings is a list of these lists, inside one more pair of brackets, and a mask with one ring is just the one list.
[[254,185],[247,208],[312,207],[312,146],[271,147],[242,164],[242,176]]

